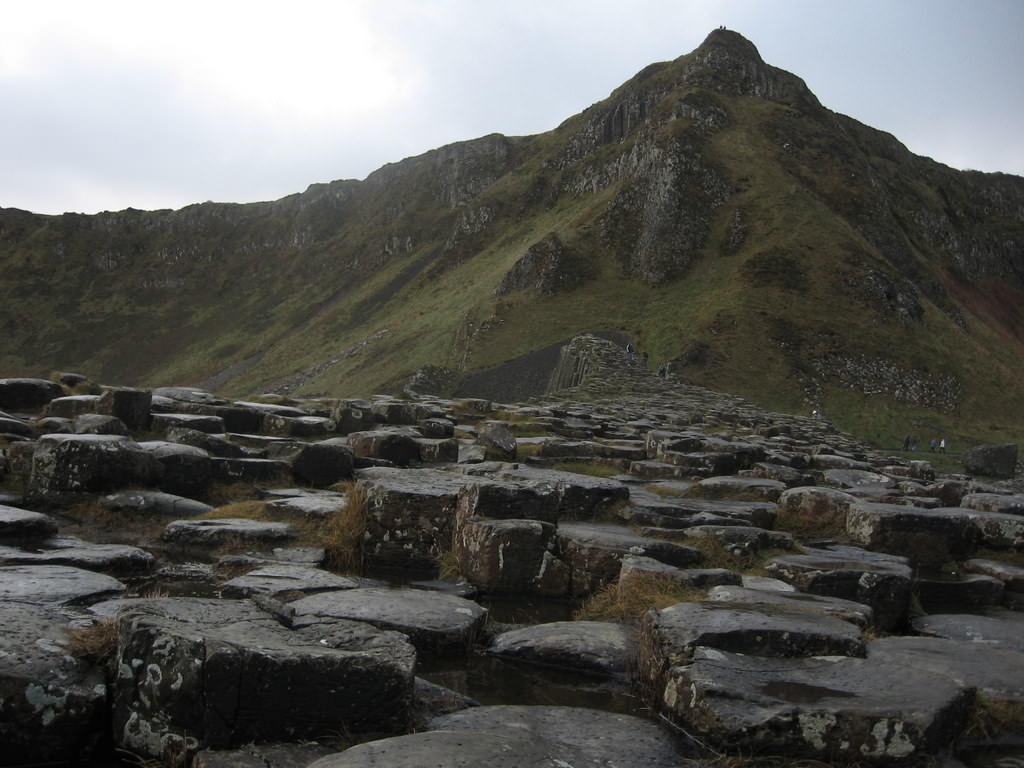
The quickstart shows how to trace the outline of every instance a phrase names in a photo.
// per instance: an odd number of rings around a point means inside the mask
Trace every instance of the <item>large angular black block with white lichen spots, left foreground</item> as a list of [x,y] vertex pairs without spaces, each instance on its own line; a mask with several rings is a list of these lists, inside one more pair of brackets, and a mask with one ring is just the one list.
[[252,603],[195,598],[139,602],[118,629],[114,737],[143,757],[410,722],[415,652],[398,633],[332,621],[290,630]]

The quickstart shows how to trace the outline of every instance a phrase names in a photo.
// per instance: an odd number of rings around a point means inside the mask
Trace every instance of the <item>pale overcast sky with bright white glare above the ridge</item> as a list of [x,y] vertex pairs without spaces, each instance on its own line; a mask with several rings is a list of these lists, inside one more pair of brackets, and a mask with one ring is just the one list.
[[720,25],[911,152],[1024,175],[1024,0],[0,0],[0,207],[364,178],[550,130]]

